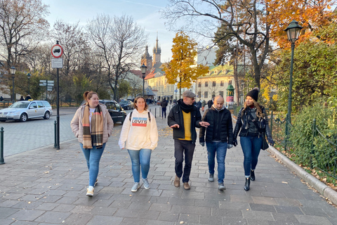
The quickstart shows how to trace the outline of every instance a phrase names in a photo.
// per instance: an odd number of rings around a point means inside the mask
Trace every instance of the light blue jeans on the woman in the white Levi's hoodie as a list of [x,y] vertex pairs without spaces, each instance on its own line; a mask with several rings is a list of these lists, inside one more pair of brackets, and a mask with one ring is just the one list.
[[142,178],[147,179],[147,174],[150,170],[150,158],[151,149],[142,148],[140,150],[130,150],[128,149],[128,155],[130,155],[132,162],[132,174],[133,180],[139,182],[140,180],[140,168],[142,170]]

